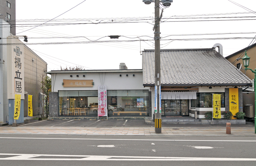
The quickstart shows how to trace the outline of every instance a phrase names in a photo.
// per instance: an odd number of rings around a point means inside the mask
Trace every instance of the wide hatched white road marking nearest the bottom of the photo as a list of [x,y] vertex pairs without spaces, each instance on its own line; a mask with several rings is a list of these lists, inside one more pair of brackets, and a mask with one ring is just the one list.
[[[1,158],[4,155],[4,158]],[[10,157],[8,157],[10,155]],[[65,157],[65,158],[63,158]],[[68,158],[70,157],[70,158]],[[73,160],[73,161],[256,161],[256,158],[204,158],[204,157],[154,157],[154,156],[92,156],[58,154],[0,153],[0,160]]]

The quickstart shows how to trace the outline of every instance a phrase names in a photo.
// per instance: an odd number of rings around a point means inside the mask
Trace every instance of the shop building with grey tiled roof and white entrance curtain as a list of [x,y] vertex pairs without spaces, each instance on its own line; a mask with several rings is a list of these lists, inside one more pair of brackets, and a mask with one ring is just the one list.
[[[160,57],[162,116],[194,117],[198,111],[204,118],[215,106],[213,94],[221,95],[222,117],[224,111],[243,111],[242,89],[252,81],[214,48],[162,49]],[[142,51],[142,62],[143,86],[151,88],[154,101],[154,50]]]

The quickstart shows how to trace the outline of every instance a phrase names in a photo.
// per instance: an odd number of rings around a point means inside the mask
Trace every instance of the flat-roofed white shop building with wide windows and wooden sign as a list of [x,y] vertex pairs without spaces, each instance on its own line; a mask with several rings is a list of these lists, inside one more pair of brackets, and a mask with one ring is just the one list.
[[142,69],[49,71],[50,117],[97,117],[98,87],[106,87],[108,117],[150,116],[150,87],[143,86]]

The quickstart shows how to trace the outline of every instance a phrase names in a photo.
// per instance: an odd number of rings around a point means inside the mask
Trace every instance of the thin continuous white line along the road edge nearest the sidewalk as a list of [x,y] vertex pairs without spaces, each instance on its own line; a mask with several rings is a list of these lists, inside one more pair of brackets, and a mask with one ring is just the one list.
[[256,140],[153,140],[153,139],[107,139],[107,138],[26,138],[26,137],[0,137],[6,139],[48,139],[48,140],[141,140],[141,141],[205,141],[205,142],[256,142]]

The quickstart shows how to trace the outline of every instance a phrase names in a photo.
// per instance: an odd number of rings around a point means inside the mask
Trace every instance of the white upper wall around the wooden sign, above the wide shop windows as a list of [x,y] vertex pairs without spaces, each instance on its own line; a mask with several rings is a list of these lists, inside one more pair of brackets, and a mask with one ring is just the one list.
[[[128,74],[128,76],[126,76]],[[134,76],[133,76],[134,74]],[[72,77],[70,77],[72,75]],[[79,77],[76,77],[79,75]],[[83,77],[85,75],[85,77]],[[120,77],[120,75],[122,75]],[[63,79],[93,80],[93,87],[63,87]],[[114,73],[54,73],[52,74],[52,92],[58,90],[98,90],[98,85],[106,85],[107,90],[150,89],[143,87],[142,72]]]

